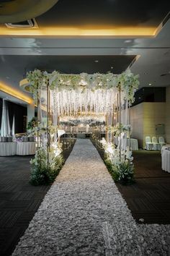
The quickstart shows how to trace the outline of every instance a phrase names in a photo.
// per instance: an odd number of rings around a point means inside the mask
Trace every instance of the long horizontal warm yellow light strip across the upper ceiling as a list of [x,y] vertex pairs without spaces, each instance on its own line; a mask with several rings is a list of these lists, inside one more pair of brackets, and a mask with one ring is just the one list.
[[154,37],[156,27],[42,27],[32,29],[0,27],[0,35],[6,36],[143,36]]

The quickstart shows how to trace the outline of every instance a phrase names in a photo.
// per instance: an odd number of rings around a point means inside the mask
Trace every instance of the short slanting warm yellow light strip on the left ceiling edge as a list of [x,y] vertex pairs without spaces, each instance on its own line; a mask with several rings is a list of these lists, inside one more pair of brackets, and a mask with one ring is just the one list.
[[29,104],[33,103],[32,98],[24,95],[23,93],[19,92],[14,88],[11,88],[9,85],[4,84],[4,82],[0,82],[0,90],[4,93],[12,95],[15,98],[19,98],[19,100],[25,101]]

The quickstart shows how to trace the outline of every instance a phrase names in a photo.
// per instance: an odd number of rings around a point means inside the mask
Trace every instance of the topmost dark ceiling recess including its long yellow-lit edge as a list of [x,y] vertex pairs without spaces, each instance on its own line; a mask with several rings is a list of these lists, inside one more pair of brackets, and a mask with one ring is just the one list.
[[[18,8],[21,8],[21,5],[27,1],[14,0],[7,4],[10,6],[10,4],[14,5],[18,2]],[[45,6],[47,1],[44,1]],[[55,0],[50,1],[55,2]],[[166,22],[165,18],[170,9],[170,1],[167,0],[59,0],[55,5],[53,5],[54,3],[51,4],[51,8],[47,7],[47,12],[44,11],[43,14],[38,15],[35,12],[35,9],[38,8],[36,2],[37,0],[33,1],[30,6],[25,4],[22,12],[26,12],[24,8],[33,9],[35,5],[35,8],[30,11],[30,15],[32,13],[30,18],[35,18],[37,27],[19,29],[7,28],[4,25],[4,23],[9,23],[8,19],[12,14],[12,8],[9,14],[8,8],[6,8],[8,14],[6,15],[6,22],[1,22],[5,8],[5,4],[4,6],[2,4],[0,8],[0,34],[24,36],[27,34],[34,36],[154,36],[159,32],[159,25],[162,26]],[[42,0],[40,2],[43,3]],[[25,17],[27,17],[26,14]]]

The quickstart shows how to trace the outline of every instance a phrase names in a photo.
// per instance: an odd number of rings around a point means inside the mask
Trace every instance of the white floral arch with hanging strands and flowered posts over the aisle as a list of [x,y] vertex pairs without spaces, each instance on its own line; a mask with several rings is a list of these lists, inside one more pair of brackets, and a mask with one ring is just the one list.
[[[132,163],[130,148],[122,145],[121,137],[130,136],[130,105],[138,89],[138,75],[127,69],[122,74],[60,74],[35,69],[27,73],[30,92],[38,108],[37,153],[43,151],[46,168],[54,168],[58,148],[58,119],[60,116],[82,116],[93,113],[107,116],[107,132],[119,137],[117,148],[102,140],[102,145],[113,166]],[[108,121],[109,120],[109,121]],[[46,157],[45,157],[46,155]],[[34,162],[33,161],[33,162]]]

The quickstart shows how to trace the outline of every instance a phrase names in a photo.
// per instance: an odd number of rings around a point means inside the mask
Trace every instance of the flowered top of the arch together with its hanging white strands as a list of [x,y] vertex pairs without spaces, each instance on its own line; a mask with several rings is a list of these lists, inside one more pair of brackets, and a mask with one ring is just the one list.
[[50,90],[50,107],[60,115],[77,115],[81,112],[112,114],[121,93],[120,103],[133,103],[138,88],[138,75],[127,69],[122,74],[60,74],[35,69],[27,73],[30,92],[35,101],[47,103],[46,90]]

